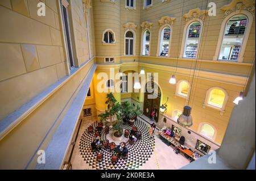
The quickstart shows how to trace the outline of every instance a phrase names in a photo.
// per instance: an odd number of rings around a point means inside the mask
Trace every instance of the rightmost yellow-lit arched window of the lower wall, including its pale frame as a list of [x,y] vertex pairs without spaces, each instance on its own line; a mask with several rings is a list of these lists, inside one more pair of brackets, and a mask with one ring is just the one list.
[[207,91],[206,104],[224,110],[228,95],[220,87],[212,87]]

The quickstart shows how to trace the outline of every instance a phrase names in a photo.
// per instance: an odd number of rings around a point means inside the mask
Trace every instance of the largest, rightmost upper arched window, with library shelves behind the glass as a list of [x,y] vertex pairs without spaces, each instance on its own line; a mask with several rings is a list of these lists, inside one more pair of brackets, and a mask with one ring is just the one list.
[[218,60],[238,60],[247,22],[247,17],[242,14],[234,15],[228,20],[225,26]]

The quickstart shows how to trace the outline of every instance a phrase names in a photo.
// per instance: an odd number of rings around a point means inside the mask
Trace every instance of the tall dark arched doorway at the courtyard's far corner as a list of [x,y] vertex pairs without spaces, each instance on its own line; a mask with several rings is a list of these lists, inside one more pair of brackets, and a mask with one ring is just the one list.
[[160,107],[161,91],[159,86],[153,82],[147,82],[144,93],[143,113],[147,117],[151,117],[151,112],[155,113],[155,121],[158,122]]

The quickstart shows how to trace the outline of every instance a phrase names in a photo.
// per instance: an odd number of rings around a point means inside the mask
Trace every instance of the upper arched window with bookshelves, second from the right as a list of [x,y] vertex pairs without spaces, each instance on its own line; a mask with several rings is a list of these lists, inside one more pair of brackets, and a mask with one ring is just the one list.
[[184,58],[196,58],[197,51],[199,48],[200,33],[201,33],[200,22],[197,22],[197,21],[192,22],[188,26],[185,44],[184,44],[185,45],[184,52],[183,52]]

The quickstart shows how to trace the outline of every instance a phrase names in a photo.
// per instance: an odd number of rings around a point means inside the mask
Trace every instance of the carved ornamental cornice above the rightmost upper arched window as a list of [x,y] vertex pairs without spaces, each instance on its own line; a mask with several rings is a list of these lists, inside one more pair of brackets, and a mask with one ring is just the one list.
[[232,12],[240,13],[241,10],[247,10],[254,16],[255,1],[233,0],[228,5],[222,6],[221,10],[225,11],[224,18]]

